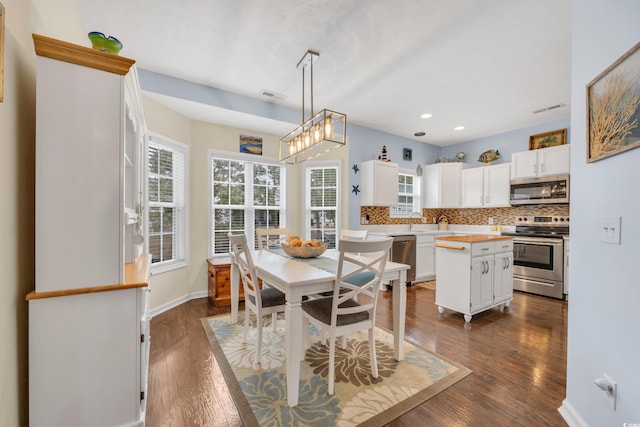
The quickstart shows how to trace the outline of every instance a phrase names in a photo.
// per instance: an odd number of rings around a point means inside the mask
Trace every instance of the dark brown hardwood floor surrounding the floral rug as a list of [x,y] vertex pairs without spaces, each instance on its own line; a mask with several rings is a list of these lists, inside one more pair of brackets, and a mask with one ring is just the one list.
[[[516,292],[511,307],[466,324],[439,314],[435,292],[407,291],[406,338],[473,370],[473,374],[391,426],[566,426],[567,302]],[[391,293],[379,300],[378,325],[391,329]],[[207,299],[182,304],[151,321],[148,426],[240,426],[200,318],[228,312]]]

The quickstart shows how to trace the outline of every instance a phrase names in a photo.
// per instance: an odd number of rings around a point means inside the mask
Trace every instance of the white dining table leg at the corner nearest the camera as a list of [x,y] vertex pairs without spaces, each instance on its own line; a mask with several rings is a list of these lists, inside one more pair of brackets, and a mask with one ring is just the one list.
[[294,407],[298,404],[298,389],[300,382],[300,360],[302,359],[302,306],[300,298],[288,301],[284,309],[287,328],[287,402]]

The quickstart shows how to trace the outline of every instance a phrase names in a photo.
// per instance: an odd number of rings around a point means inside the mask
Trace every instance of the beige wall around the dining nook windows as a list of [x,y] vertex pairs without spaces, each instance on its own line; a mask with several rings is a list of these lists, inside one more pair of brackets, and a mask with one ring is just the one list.
[[[190,298],[207,290],[207,265],[209,247],[209,150],[237,154],[241,134],[262,138],[263,158],[277,160],[279,136],[210,123],[190,121],[155,100],[144,97],[145,117],[150,132],[169,137],[189,146],[189,265],[184,268],[154,275],[151,279],[152,310],[162,310],[179,300]],[[343,224],[347,221],[349,192],[348,155],[346,148],[332,151],[322,159],[340,160],[342,164],[343,194],[341,203]],[[300,217],[304,200],[301,185],[302,168],[287,167],[287,226],[292,233],[301,233]]]

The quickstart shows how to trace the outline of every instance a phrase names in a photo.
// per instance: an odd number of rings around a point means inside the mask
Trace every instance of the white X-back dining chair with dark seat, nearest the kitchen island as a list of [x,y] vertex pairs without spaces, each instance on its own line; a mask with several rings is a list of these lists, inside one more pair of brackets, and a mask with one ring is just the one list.
[[[305,319],[329,334],[329,394],[335,379],[336,339],[361,330],[369,330],[371,374],[378,377],[375,320],[380,281],[393,239],[340,240],[338,270],[333,295],[302,303]],[[364,295],[367,298],[359,298]],[[364,300],[364,301],[362,301]]]

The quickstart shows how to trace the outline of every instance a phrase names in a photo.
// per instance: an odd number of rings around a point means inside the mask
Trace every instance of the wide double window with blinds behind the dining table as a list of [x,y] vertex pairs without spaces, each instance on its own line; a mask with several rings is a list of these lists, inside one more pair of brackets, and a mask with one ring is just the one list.
[[[229,252],[228,233],[284,227],[284,166],[211,155],[210,254]],[[254,246],[257,247],[257,246]]]

